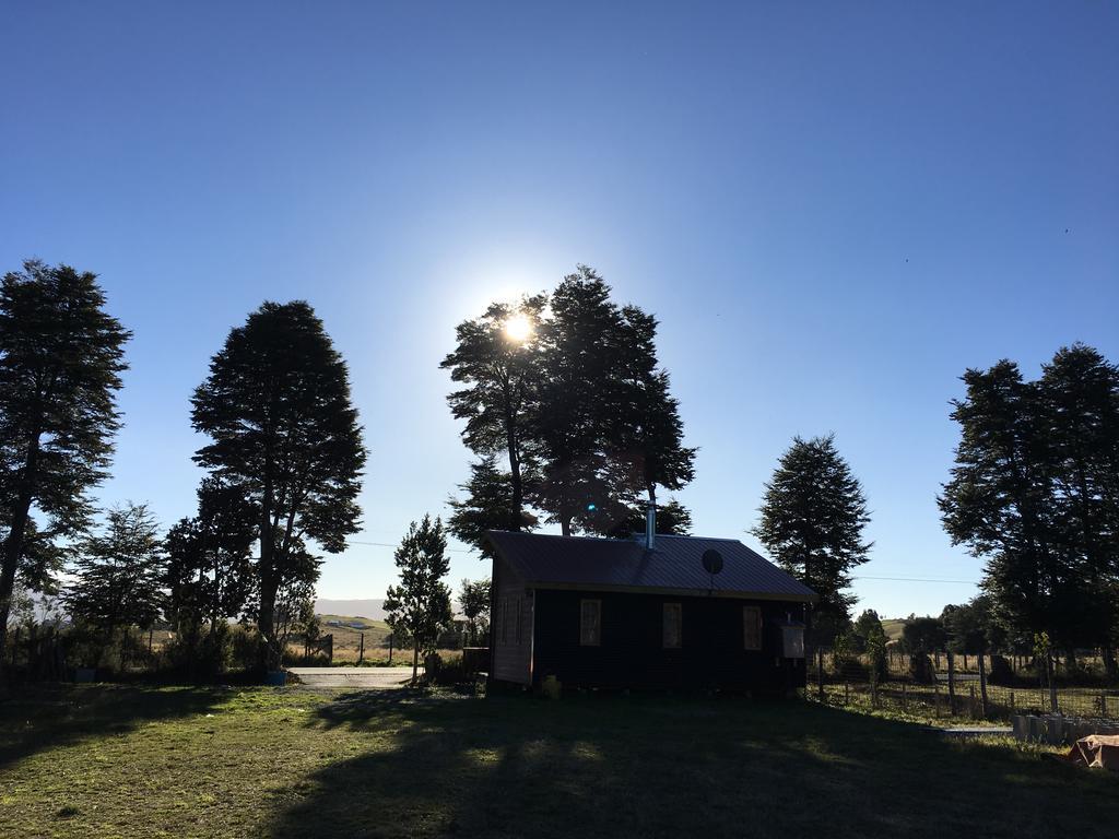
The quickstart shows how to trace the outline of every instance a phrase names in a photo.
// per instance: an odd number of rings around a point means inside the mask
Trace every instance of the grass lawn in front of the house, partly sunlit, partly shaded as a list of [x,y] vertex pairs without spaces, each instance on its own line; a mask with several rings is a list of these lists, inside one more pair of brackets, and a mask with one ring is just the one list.
[[0,701],[0,837],[1113,830],[1119,779],[1040,754],[799,703],[34,688]]

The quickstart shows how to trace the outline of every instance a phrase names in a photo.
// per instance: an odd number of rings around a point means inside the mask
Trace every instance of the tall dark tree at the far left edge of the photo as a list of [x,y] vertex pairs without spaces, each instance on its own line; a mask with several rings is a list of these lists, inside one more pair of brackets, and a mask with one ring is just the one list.
[[96,276],[68,265],[29,261],[0,283],[0,661],[21,564],[85,527],[106,474],[130,333],[104,307]]

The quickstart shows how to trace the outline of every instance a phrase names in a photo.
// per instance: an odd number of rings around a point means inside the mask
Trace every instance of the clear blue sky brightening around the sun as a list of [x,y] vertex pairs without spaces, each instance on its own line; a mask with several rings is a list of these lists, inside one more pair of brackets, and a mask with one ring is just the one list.
[[190,515],[210,356],[308,300],[370,450],[322,597],[384,596],[467,478],[454,326],[577,263],[660,319],[695,532],[760,548],[834,432],[884,616],[976,593],[935,503],[963,370],[1119,360],[1116,3],[9,2],[0,38],[0,270],[94,271],[134,332],[97,499]]

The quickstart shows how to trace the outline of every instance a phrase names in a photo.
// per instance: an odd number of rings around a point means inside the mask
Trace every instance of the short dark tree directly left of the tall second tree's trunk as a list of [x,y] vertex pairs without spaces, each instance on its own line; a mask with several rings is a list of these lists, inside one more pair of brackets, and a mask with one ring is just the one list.
[[257,518],[239,488],[207,478],[198,488],[198,515],[180,520],[164,539],[164,612],[192,662],[219,654],[229,619],[242,614],[254,591]]

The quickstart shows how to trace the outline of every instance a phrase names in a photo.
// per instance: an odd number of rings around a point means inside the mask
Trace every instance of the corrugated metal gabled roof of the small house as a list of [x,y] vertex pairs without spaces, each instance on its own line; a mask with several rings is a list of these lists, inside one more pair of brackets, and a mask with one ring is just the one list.
[[[536,588],[664,592],[811,603],[816,593],[736,539],[658,535],[652,550],[643,540],[489,530],[497,553]],[[705,550],[723,557],[708,574]]]

